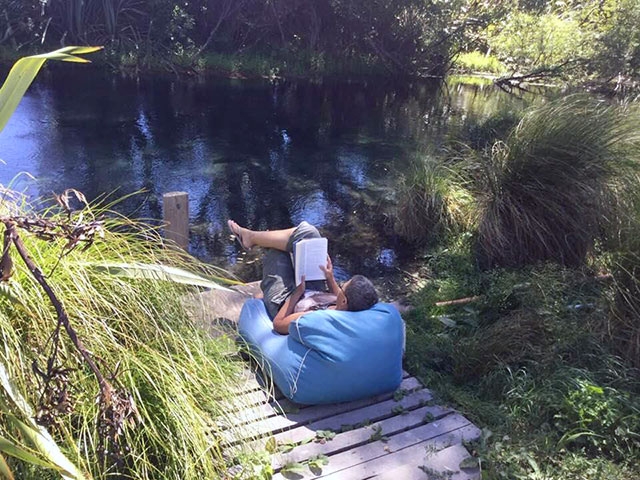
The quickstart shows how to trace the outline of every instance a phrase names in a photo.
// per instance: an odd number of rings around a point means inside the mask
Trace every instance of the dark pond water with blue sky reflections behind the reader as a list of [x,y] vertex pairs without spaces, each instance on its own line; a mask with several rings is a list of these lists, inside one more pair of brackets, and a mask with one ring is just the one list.
[[186,191],[190,250],[223,266],[242,258],[225,219],[307,220],[329,238],[337,276],[401,267],[409,252],[389,228],[400,175],[498,109],[523,107],[490,86],[61,72],[36,79],[0,133],[0,183],[32,197],[144,189],[118,208],[154,219],[163,193]]

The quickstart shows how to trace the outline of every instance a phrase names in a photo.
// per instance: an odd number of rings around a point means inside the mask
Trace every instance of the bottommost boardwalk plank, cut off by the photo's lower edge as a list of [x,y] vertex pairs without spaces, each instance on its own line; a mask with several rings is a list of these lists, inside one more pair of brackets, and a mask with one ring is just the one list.
[[[419,450],[419,448],[417,448],[417,450]],[[402,465],[398,468],[390,468],[390,462],[384,462],[384,464],[382,465],[383,472],[373,477],[373,479],[429,480],[432,478],[443,478],[446,480],[480,480],[481,478],[481,474],[478,468],[460,468],[460,463],[471,456],[469,455],[469,452],[466,450],[466,448],[464,448],[460,444],[452,445],[431,455],[424,455],[423,451],[423,460],[420,460],[420,452],[418,451],[416,453],[417,456],[415,457],[415,460],[412,464]],[[393,461],[396,462],[396,460]],[[370,467],[376,469],[378,468],[374,465],[371,465]],[[346,471],[343,472],[343,475],[347,476],[340,477],[340,479],[348,479],[348,475],[350,474],[348,473],[348,471]]]

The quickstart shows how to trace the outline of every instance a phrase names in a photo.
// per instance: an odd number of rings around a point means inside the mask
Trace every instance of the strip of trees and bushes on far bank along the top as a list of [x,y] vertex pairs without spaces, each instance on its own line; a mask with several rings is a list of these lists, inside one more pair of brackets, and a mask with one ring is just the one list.
[[276,55],[305,59],[303,74],[355,63],[367,73],[442,77],[457,57],[465,71],[563,65],[565,79],[630,81],[638,75],[638,9],[636,0],[0,0],[0,44],[102,44],[107,63],[122,68],[198,70],[208,55],[243,64],[246,55]]

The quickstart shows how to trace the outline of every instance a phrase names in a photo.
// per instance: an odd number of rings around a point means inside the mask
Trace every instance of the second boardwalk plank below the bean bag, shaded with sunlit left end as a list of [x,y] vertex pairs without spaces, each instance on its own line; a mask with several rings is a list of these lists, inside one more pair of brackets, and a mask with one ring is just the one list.
[[[415,385],[414,382],[417,382],[417,380],[412,378],[406,379],[406,384],[408,385]],[[403,383],[405,383],[405,381],[403,381]],[[255,438],[256,436],[261,436],[268,433],[276,434],[284,430],[292,429],[297,426],[309,424],[312,422],[319,422],[319,424],[325,425],[318,427],[321,429],[326,430],[330,428],[339,430],[342,425],[351,425],[353,423],[358,423],[367,419],[373,422],[390,417],[393,415],[391,410],[398,405],[402,405],[404,408],[417,408],[424,405],[425,402],[428,402],[433,398],[431,392],[428,389],[409,393],[399,402],[393,400],[392,397],[393,393],[389,393],[374,397],[373,399],[357,400],[355,402],[348,402],[344,404],[319,405],[314,408],[305,409],[299,414],[289,414],[288,417],[270,417],[255,423],[248,424],[245,428],[246,436]],[[391,399],[383,400],[382,402],[380,402],[380,400],[384,398]],[[371,405],[372,400],[378,401],[379,403]],[[363,416],[364,418],[362,418]],[[355,420],[356,418],[362,419]],[[234,442],[240,440],[241,438],[231,435],[225,438],[226,442]],[[292,441],[297,440],[294,439]]]

